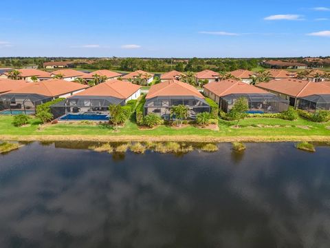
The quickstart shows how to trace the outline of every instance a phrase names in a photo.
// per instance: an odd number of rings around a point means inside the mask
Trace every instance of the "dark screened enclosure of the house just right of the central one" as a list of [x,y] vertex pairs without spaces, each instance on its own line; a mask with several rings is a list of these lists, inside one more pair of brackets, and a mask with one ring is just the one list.
[[289,101],[271,93],[229,94],[227,96],[221,96],[219,99],[220,109],[224,112],[229,112],[234,106],[235,101],[241,97],[248,100],[248,112],[250,113],[278,113],[287,110],[289,107]]

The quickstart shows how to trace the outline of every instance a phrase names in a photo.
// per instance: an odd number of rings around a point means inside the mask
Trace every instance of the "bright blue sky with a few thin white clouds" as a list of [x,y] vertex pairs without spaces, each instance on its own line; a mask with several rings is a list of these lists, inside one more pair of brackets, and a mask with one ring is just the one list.
[[329,56],[330,1],[1,0],[0,56]]

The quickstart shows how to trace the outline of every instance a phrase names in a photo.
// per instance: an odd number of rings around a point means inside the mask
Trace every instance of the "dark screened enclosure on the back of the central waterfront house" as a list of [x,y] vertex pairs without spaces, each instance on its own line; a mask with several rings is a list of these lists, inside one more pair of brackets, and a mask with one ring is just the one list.
[[170,118],[170,109],[176,105],[188,107],[188,118],[196,118],[196,114],[210,112],[210,105],[204,99],[196,96],[156,96],[147,99],[144,104],[144,115],[157,114],[162,118]]

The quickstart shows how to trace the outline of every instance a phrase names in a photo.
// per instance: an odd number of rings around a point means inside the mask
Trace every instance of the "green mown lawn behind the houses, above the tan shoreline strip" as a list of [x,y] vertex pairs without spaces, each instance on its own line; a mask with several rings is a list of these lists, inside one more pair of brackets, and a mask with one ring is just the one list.
[[[201,138],[243,137],[243,136],[329,136],[330,123],[313,123],[299,118],[296,121],[285,121],[278,118],[245,118],[235,128],[235,121],[219,121],[219,131],[201,129],[189,125],[181,129],[161,125],[153,130],[139,130],[133,121],[115,132],[108,125],[89,125],[77,123],[58,123],[43,125],[39,130],[39,120],[34,118],[30,125],[14,127],[12,116],[0,116],[0,136],[200,136]],[[289,139],[289,138],[288,138]]]

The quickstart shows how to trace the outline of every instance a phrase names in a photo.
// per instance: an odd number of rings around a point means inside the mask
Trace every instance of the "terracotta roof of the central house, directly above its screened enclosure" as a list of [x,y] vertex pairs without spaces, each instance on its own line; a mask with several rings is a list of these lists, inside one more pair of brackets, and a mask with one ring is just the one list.
[[197,96],[204,99],[204,96],[194,86],[171,79],[151,86],[146,99],[155,96]]

